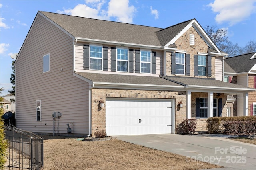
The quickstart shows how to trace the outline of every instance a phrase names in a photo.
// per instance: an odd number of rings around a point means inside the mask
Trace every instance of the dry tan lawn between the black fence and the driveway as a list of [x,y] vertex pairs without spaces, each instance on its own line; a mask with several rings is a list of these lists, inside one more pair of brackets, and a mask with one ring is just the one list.
[[[59,137],[57,137],[59,138]],[[119,141],[49,139],[44,136],[43,170],[196,170],[220,166]]]

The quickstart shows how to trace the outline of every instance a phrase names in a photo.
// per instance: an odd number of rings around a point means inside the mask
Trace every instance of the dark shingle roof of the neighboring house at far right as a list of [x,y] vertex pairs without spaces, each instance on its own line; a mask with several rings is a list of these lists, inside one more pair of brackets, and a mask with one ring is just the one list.
[[224,60],[225,72],[249,72],[252,69],[252,67],[256,64],[256,58],[250,59],[254,54],[255,52],[226,58]]

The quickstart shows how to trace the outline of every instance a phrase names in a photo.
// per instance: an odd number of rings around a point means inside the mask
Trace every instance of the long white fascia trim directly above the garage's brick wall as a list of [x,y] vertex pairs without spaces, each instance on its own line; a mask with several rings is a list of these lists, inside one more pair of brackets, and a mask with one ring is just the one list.
[[126,83],[107,83],[94,82],[94,88],[118,88],[118,89],[139,89],[139,90],[182,90],[184,86],[167,86],[155,84],[126,84]]

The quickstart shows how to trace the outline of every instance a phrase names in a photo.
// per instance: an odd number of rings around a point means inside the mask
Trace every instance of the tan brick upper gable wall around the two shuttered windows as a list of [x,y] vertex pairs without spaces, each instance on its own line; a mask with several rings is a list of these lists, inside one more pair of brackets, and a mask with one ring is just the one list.
[[[189,34],[195,35],[195,45],[189,45]],[[177,50],[185,50],[187,54],[190,54],[190,76],[194,76],[194,55],[197,53],[208,53],[208,45],[204,42],[202,37],[196,32],[193,27],[190,27],[179,39],[175,41]],[[166,52],[166,75],[174,76],[171,74],[171,52]],[[180,76],[180,75],[178,75]],[[212,76],[205,78],[215,78],[215,57],[212,57]]]

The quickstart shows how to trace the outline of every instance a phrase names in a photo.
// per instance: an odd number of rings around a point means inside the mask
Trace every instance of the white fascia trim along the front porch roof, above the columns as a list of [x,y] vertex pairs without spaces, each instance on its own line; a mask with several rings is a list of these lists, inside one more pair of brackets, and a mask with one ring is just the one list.
[[229,91],[229,92],[254,92],[256,89],[249,88],[232,88],[229,87],[215,87],[215,86],[197,86],[197,85],[187,85],[187,88],[191,89],[203,89],[203,90],[221,90],[221,91]]

